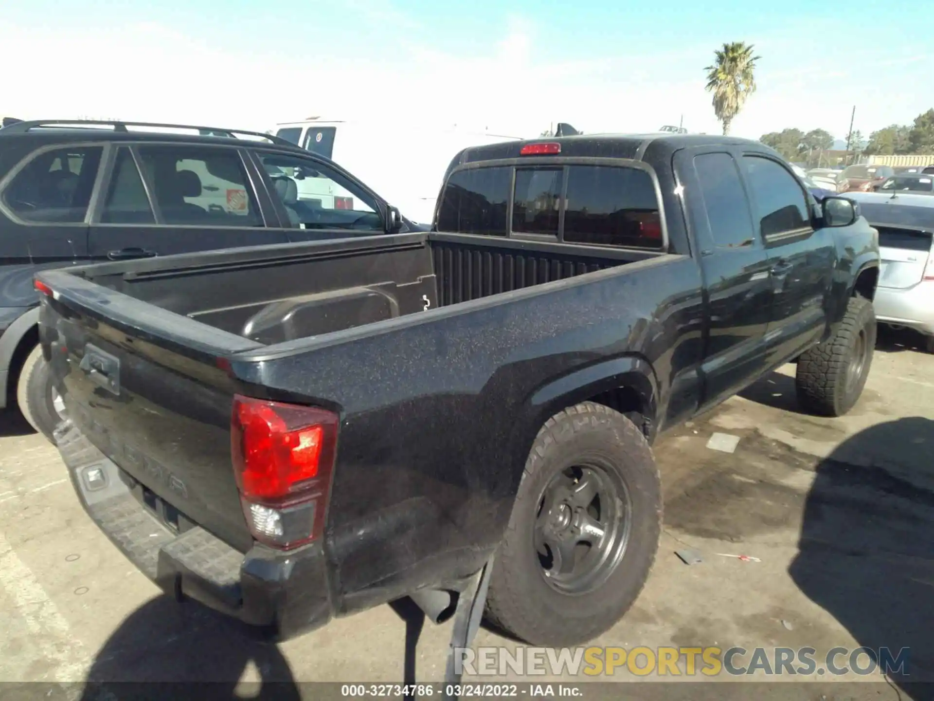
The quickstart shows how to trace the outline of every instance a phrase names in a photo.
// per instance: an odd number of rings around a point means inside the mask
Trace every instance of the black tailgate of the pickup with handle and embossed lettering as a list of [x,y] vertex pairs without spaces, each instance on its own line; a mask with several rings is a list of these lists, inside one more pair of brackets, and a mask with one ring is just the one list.
[[200,525],[247,551],[233,380],[218,359],[259,344],[63,271],[37,279],[50,288],[40,336],[71,421],[170,528]]

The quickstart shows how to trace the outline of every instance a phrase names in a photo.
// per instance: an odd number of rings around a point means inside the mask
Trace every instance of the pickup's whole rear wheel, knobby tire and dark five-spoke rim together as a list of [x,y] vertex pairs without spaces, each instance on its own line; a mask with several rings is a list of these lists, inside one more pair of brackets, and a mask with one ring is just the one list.
[[561,411],[532,444],[488,618],[535,645],[600,635],[642,591],[661,510],[658,468],[635,424],[591,402]]

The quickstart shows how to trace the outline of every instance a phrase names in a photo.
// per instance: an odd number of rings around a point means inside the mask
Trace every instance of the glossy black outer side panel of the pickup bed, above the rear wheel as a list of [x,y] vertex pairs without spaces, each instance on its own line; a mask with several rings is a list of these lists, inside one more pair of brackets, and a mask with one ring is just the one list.
[[672,255],[235,360],[258,391],[340,409],[327,547],[345,607],[481,565],[535,434],[588,386],[647,367],[664,402],[700,359],[700,288]]

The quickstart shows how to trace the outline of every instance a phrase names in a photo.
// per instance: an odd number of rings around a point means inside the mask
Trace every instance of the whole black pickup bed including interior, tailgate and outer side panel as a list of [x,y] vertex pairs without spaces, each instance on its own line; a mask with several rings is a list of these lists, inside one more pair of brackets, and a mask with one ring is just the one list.
[[[651,376],[627,349],[668,352],[658,323],[693,328],[684,302],[701,286],[683,255],[442,233],[107,263],[37,281],[43,348],[77,432],[67,440],[82,446],[66,463],[79,494],[89,460],[117,490],[82,497],[92,518],[141,568],[165,568],[157,580],[188,573],[184,592],[206,587],[244,620],[271,614],[249,603],[242,578],[278,577],[270,558],[292,565],[249,531],[232,467],[234,394],[341,417],[327,536],[306,554],[323,589],[307,604],[314,620],[295,617],[297,627],[437,586],[439,572],[475,572],[508,519],[519,473],[506,466],[523,459],[518,447],[553,401],[544,383],[598,362]],[[480,415],[483,436],[460,430]],[[135,526],[113,535],[107,519],[129,518],[131,504],[142,509],[133,523],[160,537],[126,540]],[[179,560],[177,543],[194,540],[219,559]],[[204,574],[216,561],[229,571]]]

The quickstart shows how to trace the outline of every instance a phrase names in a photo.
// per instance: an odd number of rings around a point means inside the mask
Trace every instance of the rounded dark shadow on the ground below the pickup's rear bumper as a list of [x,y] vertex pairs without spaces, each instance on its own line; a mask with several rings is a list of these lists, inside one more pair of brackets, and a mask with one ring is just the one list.
[[[239,684],[249,665],[261,681]],[[157,684],[158,686],[153,686]],[[151,599],[94,657],[82,701],[145,698],[299,699],[289,664],[272,642],[198,604]]]

